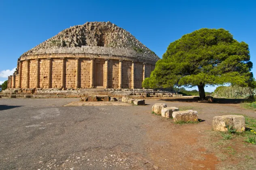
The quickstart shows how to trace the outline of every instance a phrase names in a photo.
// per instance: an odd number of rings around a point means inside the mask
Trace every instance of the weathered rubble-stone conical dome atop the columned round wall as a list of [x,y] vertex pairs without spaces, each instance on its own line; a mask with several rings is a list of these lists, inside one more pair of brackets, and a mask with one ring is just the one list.
[[130,32],[111,22],[86,22],[67,28],[21,57],[40,54],[100,54],[153,62],[160,59]]

